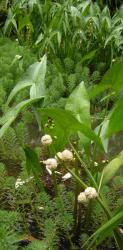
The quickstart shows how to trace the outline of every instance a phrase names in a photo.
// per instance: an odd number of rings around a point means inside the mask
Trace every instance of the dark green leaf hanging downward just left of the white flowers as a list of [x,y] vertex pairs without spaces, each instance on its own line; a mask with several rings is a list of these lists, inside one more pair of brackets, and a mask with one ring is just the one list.
[[37,182],[38,187],[40,190],[43,190],[43,185],[41,183],[41,166],[39,163],[38,156],[34,150],[29,147],[24,148],[25,156],[26,156],[26,168],[28,174],[31,172],[34,175],[35,181]]

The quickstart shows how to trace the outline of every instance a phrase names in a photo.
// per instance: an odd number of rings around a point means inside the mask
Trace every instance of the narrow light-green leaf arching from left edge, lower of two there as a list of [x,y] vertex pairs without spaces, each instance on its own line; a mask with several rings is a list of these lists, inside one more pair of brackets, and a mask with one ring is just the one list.
[[18,116],[18,114],[21,112],[22,109],[24,109],[25,107],[29,106],[32,103],[38,102],[42,98],[44,98],[44,97],[41,96],[41,97],[38,97],[38,98],[25,100],[25,101],[20,102],[15,107],[11,108],[5,114],[5,116],[1,118],[0,122],[1,122],[1,124],[3,124],[3,126],[0,129],[0,138],[4,135],[6,130],[9,128],[11,123],[16,119],[16,117]]

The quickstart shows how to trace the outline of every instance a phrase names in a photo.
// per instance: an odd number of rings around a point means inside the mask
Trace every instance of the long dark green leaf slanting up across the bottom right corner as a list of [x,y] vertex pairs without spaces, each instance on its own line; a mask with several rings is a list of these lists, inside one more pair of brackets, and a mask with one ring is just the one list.
[[[88,245],[87,249],[96,242],[99,245],[103,240],[105,240],[110,234],[113,234],[113,230],[123,221],[123,211],[119,212],[104,225],[102,225],[97,231],[89,238],[91,243]],[[122,239],[123,247],[123,239]]]

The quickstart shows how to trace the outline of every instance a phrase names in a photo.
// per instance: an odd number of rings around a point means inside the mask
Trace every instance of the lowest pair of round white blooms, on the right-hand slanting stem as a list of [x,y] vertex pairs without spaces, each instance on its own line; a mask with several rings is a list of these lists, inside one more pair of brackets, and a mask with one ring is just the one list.
[[94,200],[98,197],[98,193],[95,188],[87,187],[84,192],[78,195],[79,203],[87,203],[89,200]]

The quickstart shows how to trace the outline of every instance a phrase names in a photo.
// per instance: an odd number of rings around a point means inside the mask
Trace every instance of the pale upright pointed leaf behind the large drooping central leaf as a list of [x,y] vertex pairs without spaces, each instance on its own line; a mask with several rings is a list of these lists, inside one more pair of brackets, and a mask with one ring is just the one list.
[[[91,127],[90,101],[84,82],[81,82],[69,96],[65,108],[70,110],[79,122],[86,124],[86,127]],[[82,133],[79,133],[79,138],[82,145],[89,142]]]

